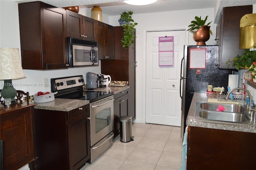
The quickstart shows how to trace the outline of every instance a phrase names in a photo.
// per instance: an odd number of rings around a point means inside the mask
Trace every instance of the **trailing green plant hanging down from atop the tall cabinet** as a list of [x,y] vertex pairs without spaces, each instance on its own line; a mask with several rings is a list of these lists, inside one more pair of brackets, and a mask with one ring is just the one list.
[[134,38],[136,36],[134,35],[135,28],[138,23],[134,22],[132,19],[132,11],[129,12],[123,12],[120,16],[120,19],[118,20],[120,23],[120,26],[124,28],[124,33],[122,37],[122,46],[124,48],[128,48],[131,44],[134,43]]

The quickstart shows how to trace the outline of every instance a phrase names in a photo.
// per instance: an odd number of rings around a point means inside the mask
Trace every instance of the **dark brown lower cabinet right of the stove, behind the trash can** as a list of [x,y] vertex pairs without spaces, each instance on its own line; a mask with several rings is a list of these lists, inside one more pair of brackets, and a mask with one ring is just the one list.
[[119,118],[128,116],[128,89],[114,94],[114,138],[120,134]]

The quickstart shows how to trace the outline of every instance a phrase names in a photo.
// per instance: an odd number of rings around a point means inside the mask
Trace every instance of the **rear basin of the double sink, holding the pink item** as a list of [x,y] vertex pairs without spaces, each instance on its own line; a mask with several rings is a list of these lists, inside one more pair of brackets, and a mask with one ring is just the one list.
[[208,103],[203,102],[200,103],[200,108],[204,110],[218,111],[218,108],[223,107],[224,112],[232,112],[232,113],[243,113],[245,112],[245,108],[239,104],[226,104],[226,103]]

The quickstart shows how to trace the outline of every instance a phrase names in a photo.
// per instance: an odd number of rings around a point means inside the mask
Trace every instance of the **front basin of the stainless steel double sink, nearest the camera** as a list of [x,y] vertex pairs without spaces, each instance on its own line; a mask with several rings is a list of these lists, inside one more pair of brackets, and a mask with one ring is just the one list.
[[199,116],[208,120],[218,120],[226,122],[247,122],[246,116],[240,113],[232,112],[213,112],[213,111],[200,111]]

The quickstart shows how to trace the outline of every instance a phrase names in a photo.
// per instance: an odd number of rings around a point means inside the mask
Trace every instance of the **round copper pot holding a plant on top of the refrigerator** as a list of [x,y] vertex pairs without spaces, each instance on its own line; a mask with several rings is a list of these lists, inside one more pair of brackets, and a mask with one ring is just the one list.
[[193,35],[197,46],[205,46],[205,42],[210,39],[210,26],[201,26]]

